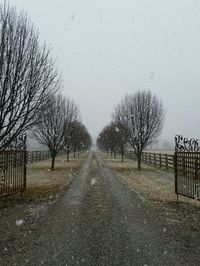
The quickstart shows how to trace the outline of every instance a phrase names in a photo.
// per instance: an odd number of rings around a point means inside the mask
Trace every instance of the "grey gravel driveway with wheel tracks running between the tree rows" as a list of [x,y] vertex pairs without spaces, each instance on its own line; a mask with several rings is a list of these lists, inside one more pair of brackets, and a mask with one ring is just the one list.
[[59,200],[1,211],[0,226],[0,265],[200,265],[199,232],[166,223],[96,152]]

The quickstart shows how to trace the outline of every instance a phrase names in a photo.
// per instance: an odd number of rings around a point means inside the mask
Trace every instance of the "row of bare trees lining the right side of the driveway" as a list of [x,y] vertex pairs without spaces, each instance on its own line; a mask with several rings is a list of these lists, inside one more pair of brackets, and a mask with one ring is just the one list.
[[126,95],[115,107],[113,122],[99,134],[98,147],[115,152],[116,149],[119,150],[121,142],[123,159],[124,147],[128,144],[134,150],[138,169],[141,170],[142,151],[157,140],[164,117],[162,101],[151,91],[144,90]]

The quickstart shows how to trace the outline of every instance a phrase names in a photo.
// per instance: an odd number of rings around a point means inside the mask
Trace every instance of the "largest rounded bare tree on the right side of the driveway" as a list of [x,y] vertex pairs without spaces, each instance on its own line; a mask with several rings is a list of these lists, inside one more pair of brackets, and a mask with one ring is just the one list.
[[150,91],[127,95],[115,108],[114,119],[133,147],[141,170],[142,151],[160,135],[164,122],[162,102]]

